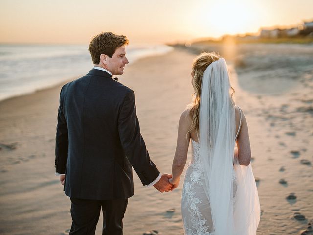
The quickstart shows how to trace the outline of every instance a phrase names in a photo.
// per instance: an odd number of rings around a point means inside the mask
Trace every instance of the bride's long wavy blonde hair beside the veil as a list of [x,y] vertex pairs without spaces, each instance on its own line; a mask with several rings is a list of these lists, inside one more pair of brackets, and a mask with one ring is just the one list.
[[[194,88],[194,93],[192,94],[193,102],[188,106],[189,115],[191,118],[191,127],[189,131],[196,130],[197,132],[199,132],[199,108],[203,73],[212,62],[217,61],[220,58],[220,55],[215,52],[203,52],[194,59],[194,62],[192,64],[192,71],[194,73],[194,76],[192,78],[192,85]],[[233,87],[231,87],[231,90],[232,98],[235,90]]]

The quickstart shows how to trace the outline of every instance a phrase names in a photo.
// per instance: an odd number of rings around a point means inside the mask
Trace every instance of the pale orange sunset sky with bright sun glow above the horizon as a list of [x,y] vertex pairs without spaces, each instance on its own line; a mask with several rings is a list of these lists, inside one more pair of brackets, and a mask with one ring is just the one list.
[[173,43],[313,20],[313,0],[0,0],[0,43]]

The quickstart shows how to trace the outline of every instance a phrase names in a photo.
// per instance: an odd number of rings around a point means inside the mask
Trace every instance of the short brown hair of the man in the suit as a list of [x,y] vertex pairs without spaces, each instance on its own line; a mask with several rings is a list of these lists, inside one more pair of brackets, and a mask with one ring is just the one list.
[[89,44],[89,52],[94,64],[100,63],[100,55],[105,54],[112,58],[115,50],[123,45],[128,45],[129,41],[124,35],[116,35],[112,32],[104,32],[94,36]]

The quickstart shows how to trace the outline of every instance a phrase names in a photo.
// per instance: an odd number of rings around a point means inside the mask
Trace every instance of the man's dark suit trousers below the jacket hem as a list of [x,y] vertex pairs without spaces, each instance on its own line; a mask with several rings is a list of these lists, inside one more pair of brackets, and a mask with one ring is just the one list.
[[86,200],[70,198],[72,226],[69,235],[94,235],[103,212],[102,235],[123,235],[123,218],[128,199]]

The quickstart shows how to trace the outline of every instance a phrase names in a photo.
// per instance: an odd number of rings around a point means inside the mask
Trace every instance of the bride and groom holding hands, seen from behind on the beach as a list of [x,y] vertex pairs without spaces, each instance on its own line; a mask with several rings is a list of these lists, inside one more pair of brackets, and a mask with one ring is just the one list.
[[89,44],[94,68],[61,89],[55,168],[71,200],[69,234],[95,234],[102,208],[102,234],[122,235],[134,195],[132,167],[143,185],[174,190],[191,142],[181,198],[185,234],[255,235],[260,205],[248,128],[232,99],[225,60],[215,53],[194,60],[193,103],[179,120],[172,174],[161,174],[140,134],[134,91],[113,78],[128,63],[126,45],[124,35],[95,36]]

